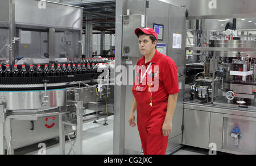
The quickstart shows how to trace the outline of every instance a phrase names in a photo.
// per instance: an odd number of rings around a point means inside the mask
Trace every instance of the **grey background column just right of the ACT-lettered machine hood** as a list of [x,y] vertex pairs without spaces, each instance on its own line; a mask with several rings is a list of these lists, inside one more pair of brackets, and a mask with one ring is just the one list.
[[[86,19],[92,19],[92,14],[86,13]],[[92,22],[86,22],[85,53],[86,57],[92,57]]]

